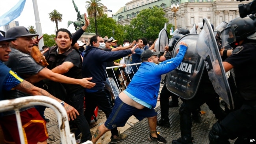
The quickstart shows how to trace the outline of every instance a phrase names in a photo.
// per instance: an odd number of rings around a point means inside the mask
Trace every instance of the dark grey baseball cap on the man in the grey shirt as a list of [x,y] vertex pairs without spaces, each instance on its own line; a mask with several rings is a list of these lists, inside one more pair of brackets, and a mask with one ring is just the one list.
[[35,37],[38,36],[37,34],[32,34],[26,29],[24,26],[15,26],[13,28],[9,28],[6,31],[6,38],[9,39],[11,37],[26,37],[26,36],[31,36]]

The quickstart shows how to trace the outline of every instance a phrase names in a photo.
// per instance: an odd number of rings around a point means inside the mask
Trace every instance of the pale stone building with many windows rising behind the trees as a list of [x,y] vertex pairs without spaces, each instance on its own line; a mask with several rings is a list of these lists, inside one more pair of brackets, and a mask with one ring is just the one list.
[[[221,22],[229,22],[239,17],[239,4],[247,4],[249,2],[237,2],[236,0],[132,0],[121,7],[117,13],[113,15],[113,19],[121,25],[129,25],[132,18],[137,17],[139,11],[153,6],[163,8],[165,17],[169,20],[169,24],[174,25],[174,12],[171,11],[171,5],[179,5],[176,12],[177,28],[191,29],[193,24],[202,25],[204,18],[217,26]],[[200,31],[200,30],[198,30]]]

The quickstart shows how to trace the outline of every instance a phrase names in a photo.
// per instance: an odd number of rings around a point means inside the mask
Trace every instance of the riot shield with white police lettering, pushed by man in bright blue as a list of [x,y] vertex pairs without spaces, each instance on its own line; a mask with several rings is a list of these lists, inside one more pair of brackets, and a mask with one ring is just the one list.
[[204,69],[204,61],[196,50],[197,38],[198,34],[187,34],[176,42],[172,57],[177,55],[181,41],[188,45],[187,52],[182,63],[166,76],[167,89],[186,100],[197,93]]

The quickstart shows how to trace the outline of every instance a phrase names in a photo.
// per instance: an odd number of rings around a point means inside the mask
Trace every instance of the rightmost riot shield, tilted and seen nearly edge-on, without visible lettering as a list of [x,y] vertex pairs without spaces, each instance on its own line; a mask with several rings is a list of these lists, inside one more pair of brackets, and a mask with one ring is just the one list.
[[[208,19],[203,19],[204,26],[197,40],[197,52],[204,59],[206,69],[215,92],[227,103],[229,109],[234,109],[234,102],[226,72],[224,71],[221,55],[217,46],[215,35]],[[221,74],[216,73],[221,69]]]

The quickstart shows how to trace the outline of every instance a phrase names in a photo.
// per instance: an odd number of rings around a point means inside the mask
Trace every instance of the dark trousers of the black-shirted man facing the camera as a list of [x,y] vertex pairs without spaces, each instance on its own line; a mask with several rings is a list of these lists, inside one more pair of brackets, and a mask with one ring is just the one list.
[[85,116],[83,114],[83,98],[84,98],[84,91],[79,90],[76,93],[68,94],[68,98],[65,100],[65,102],[72,107],[74,107],[78,113],[79,116],[76,115],[76,119],[74,119],[75,124],[80,129],[82,133],[81,141],[85,142],[87,140],[91,140],[91,132],[88,122],[85,119]]

